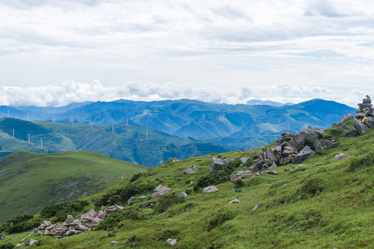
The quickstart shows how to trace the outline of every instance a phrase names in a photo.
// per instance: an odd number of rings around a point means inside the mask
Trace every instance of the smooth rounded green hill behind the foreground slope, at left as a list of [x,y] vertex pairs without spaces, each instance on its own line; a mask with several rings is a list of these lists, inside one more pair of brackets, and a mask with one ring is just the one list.
[[0,158],[0,221],[95,194],[145,168],[87,151],[18,151]]

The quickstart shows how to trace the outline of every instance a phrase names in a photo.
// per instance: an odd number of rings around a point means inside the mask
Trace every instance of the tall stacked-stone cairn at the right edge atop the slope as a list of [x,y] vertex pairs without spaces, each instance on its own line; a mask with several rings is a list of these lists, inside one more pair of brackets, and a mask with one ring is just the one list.
[[357,104],[359,109],[355,118],[353,118],[353,127],[357,130],[359,135],[362,135],[367,129],[374,128],[373,118],[373,104],[371,104],[370,96],[366,95],[366,98],[362,100],[362,103]]

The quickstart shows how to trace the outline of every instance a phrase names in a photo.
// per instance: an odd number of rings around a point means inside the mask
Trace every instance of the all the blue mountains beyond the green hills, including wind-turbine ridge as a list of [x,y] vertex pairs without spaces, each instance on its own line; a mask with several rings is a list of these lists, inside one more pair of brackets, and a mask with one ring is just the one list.
[[[344,114],[355,113],[355,109],[345,104],[319,99],[280,106],[276,102],[251,103],[256,105],[197,100],[115,100],[74,103],[66,107],[1,106],[0,117],[8,116],[9,111],[9,116],[18,120],[0,122],[0,130],[8,134],[0,132],[0,142],[12,136],[13,127],[19,127],[15,129],[15,138],[22,141],[17,145],[1,142],[0,153],[16,151],[11,147],[19,148],[21,144],[30,151],[39,151],[37,145],[41,138],[44,152],[97,151],[154,166],[174,156],[188,158],[230,149],[250,149],[272,142],[284,131],[300,131],[308,126],[324,129],[338,122]],[[27,122],[27,117],[39,122]],[[41,122],[53,118],[58,122]],[[74,122],[68,122],[71,119]],[[95,127],[93,130],[87,124],[90,120]],[[115,133],[111,133],[113,124]],[[149,140],[144,139],[147,128]],[[25,144],[30,132],[34,145]]]

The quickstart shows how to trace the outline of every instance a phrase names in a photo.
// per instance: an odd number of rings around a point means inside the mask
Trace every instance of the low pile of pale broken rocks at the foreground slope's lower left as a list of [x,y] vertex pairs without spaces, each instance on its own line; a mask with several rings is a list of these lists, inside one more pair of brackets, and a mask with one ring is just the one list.
[[78,219],[74,219],[73,216],[69,214],[66,217],[66,220],[61,224],[52,224],[50,221],[43,221],[38,228],[35,228],[35,232],[37,235],[57,236],[59,239],[73,234],[88,232],[99,225],[100,221],[104,220],[106,216],[115,214],[118,210],[123,209],[123,207],[114,204],[113,206],[106,208],[105,210],[100,210],[99,212],[95,212],[95,210],[91,209],[86,214],[75,217],[79,217]]

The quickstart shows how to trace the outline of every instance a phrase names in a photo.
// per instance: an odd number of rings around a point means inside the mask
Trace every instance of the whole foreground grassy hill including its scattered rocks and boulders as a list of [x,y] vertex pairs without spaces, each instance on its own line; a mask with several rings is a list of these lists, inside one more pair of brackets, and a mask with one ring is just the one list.
[[330,129],[165,163],[20,213],[1,225],[0,248],[374,248],[372,117],[360,106]]

